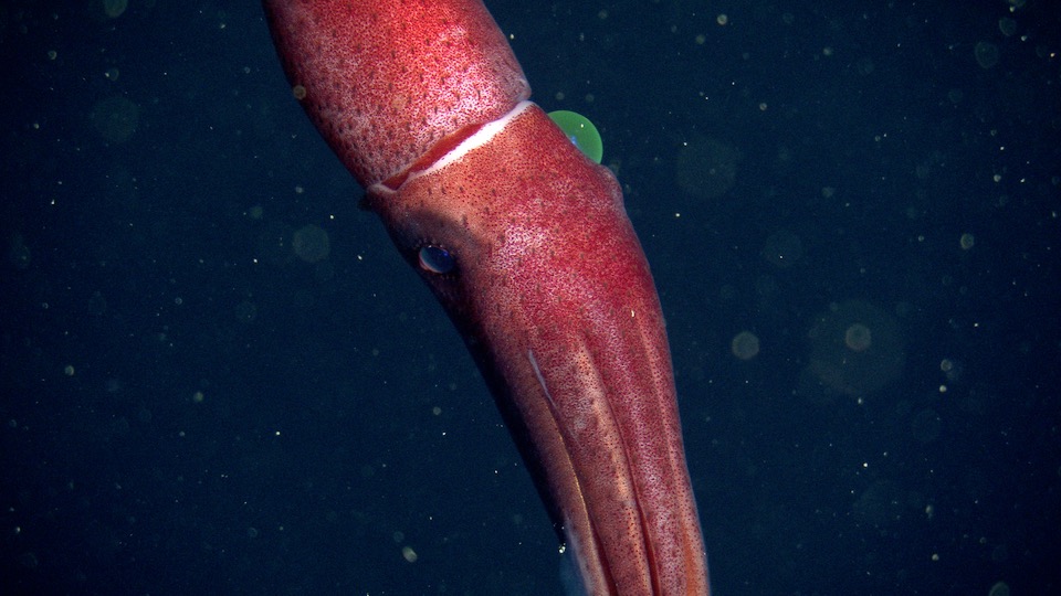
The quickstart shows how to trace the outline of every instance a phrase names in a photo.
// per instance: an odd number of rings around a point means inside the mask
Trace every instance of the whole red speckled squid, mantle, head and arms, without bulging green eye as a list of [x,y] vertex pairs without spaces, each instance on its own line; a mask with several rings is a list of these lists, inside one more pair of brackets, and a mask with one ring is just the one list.
[[[459,148],[460,159],[427,169],[444,155],[440,140],[463,138],[527,95],[522,72],[477,1],[427,2],[431,11],[420,2],[364,3],[372,9],[266,0],[288,77],[307,89],[306,110],[468,341],[578,555],[587,592],[707,594],[663,316],[618,182],[533,104],[521,105],[489,141]],[[428,14],[435,11],[448,17]],[[447,45],[459,65],[448,67],[435,40],[453,26],[482,38]],[[356,60],[340,49],[344,39],[361,49]],[[368,43],[377,47],[366,54]],[[432,49],[427,63],[424,47]],[[472,55],[485,63],[470,64]],[[399,62],[380,64],[391,58]],[[445,75],[438,75],[440,64]],[[454,82],[454,72],[464,81]],[[379,73],[398,73],[399,81],[381,84]],[[417,87],[440,81],[441,91]],[[403,102],[396,109],[384,102],[376,109],[365,97],[380,97],[379,88],[420,102],[463,97],[453,88],[492,91],[479,96],[490,105]],[[336,125],[349,121],[336,106],[356,109],[367,124]],[[441,114],[432,118],[443,124],[419,131],[428,113]],[[382,147],[365,149],[372,142]],[[450,252],[455,269],[421,266],[426,245]]]

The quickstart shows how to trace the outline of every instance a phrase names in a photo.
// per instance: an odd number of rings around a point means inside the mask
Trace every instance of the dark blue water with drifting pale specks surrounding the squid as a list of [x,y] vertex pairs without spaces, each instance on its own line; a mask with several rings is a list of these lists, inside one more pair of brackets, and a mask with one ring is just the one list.
[[[0,8],[3,593],[558,593],[256,3],[75,4]],[[1049,2],[523,4],[653,266],[716,594],[1061,589]]]

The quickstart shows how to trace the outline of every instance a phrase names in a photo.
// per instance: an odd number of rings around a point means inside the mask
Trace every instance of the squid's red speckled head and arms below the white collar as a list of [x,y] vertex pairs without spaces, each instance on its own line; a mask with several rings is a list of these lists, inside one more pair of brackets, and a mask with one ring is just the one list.
[[[369,193],[523,426],[590,593],[705,594],[663,317],[611,172],[525,104],[461,159]],[[419,267],[426,243],[458,268]]]

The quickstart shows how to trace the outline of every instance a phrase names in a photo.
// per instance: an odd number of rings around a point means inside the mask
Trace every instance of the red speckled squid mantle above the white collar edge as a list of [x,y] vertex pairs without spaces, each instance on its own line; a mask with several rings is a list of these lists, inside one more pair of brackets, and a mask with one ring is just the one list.
[[266,0],[306,114],[363,187],[530,95],[480,0]]

